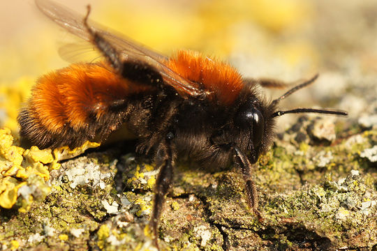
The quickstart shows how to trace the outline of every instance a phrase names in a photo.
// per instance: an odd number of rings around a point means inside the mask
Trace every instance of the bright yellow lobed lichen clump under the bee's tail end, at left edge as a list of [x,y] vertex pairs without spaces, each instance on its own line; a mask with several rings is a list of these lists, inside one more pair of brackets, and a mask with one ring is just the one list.
[[[0,206],[12,208],[18,198],[18,190],[23,185],[34,185],[38,188],[38,195],[46,196],[50,193],[50,186],[45,182],[50,179],[50,170],[58,169],[58,160],[72,158],[80,155],[86,149],[99,146],[98,143],[86,142],[83,146],[72,151],[68,147],[55,149],[22,149],[15,146],[9,128],[0,129]],[[28,196],[29,188],[24,190],[20,200],[20,212],[26,212],[34,201],[32,195]]]

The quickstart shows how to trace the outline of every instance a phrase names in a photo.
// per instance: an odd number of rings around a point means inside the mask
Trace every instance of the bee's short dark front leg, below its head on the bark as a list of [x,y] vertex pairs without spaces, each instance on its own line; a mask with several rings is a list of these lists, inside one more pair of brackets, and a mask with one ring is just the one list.
[[246,155],[244,155],[244,153],[242,153],[237,146],[233,146],[233,149],[236,153],[235,160],[239,167],[241,167],[242,176],[244,177],[245,191],[249,207],[257,215],[258,220],[263,221],[263,218],[258,210],[258,191],[256,190],[256,183],[254,183],[253,178],[251,177],[251,168],[253,168],[253,166]]

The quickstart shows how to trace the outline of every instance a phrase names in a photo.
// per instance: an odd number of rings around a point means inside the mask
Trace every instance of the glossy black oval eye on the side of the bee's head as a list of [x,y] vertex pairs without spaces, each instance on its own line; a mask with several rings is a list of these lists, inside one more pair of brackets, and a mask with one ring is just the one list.
[[244,130],[252,130],[254,146],[260,145],[263,139],[263,132],[265,131],[265,121],[262,113],[256,107],[239,109],[235,124]]

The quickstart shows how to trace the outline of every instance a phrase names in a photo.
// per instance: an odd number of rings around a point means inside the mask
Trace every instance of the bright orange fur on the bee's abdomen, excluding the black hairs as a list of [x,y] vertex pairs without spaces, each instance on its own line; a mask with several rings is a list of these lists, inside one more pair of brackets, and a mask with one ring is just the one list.
[[111,102],[146,89],[150,87],[126,81],[103,63],[77,63],[38,79],[29,112],[34,123],[52,133],[64,126],[87,130],[91,113],[100,119]]

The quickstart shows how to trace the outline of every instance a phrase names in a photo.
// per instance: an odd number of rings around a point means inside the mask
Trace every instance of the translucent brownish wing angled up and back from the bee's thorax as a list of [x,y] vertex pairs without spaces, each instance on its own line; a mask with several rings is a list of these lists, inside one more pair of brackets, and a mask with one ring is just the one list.
[[[75,36],[89,42],[91,41],[91,33],[89,33],[87,27],[84,25],[83,15],[77,14],[73,10],[50,0],[36,0],[36,5],[47,17],[59,24],[59,26],[62,26]],[[134,42],[131,38],[110,32],[108,29],[94,22],[89,22],[89,26],[91,31],[98,33],[98,35],[107,40],[119,52],[121,59],[147,63],[147,65],[161,74],[165,84],[172,86],[183,98],[190,96],[205,98],[207,96],[208,93],[200,89],[198,84],[179,76],[175,71],[165,66],[164,62],[168,60],[167,56],[149,50],[147,47]]]

